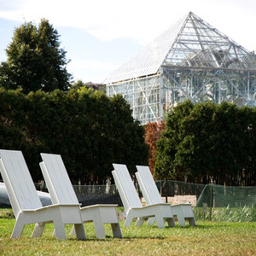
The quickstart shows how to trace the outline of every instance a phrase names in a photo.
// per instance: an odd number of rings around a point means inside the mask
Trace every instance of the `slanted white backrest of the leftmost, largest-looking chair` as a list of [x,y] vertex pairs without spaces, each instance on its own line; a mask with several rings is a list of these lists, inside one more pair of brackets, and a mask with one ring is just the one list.
[[15,212],[42,207],[26,161],[20,151],[0,150],[0,171]]

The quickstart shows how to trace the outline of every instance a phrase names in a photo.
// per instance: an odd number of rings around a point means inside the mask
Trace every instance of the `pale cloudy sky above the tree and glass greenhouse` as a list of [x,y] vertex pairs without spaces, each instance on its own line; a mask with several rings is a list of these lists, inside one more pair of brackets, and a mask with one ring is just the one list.
[[15,27],[44,18],[67,51],[73,81],[102,83],[190,11],[256,51],[255,0],[0,0],[0,61]]

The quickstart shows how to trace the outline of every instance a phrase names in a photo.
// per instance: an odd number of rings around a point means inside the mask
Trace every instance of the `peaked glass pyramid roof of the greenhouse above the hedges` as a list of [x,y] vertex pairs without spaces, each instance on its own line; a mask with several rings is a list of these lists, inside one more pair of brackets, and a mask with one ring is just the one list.
[[190,12],[111,73],[104,83],[158,73],[161,66],[256,71],[256,56]]

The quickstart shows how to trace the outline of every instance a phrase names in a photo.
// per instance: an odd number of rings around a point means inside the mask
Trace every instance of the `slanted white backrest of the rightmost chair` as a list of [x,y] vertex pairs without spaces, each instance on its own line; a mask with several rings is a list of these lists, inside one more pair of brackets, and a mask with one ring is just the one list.
[[142,189],[144,199],[147,205],[162,203],[159,190],[154,182],[154,178],[148,168],[148,166],[136,166],[137,182]]

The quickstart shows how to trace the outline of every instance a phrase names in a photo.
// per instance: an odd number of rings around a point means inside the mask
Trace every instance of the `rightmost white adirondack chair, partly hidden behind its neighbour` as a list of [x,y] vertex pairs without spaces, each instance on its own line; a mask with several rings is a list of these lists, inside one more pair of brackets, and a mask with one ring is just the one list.
[[[148,166],[136,166],[137,172],[135,173],[137,181],[143,192],[143,197],[147,205],[163,202],[159,190],[156,187],[154,178],[151,175]],[[192,210],[191,204],[182,203],[177,205],[171,205],[173,216],[177,216],[177,221],[180,226],[186,225],[186,219],[189,220],[189,224],[195,226],[195,216]],[[149,223],[154,224],[154,218],[148,220]]]

